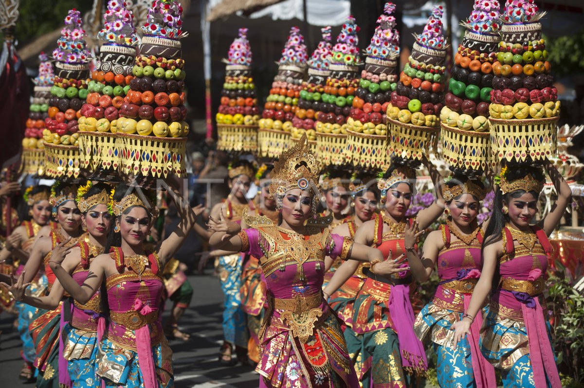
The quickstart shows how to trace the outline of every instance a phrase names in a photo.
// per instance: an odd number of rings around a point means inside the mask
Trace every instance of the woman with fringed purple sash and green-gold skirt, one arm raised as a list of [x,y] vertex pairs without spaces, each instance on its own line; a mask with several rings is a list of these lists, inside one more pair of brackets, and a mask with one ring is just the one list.
[[[424,162],[441,193],[440,174],[432,163]],[[360,226],[355,233],[356,243],[377,247],[385,257],[394,260],[406,252],[405,213],[412,202],[415,179],[413,169],[394,160],[384,179],[377,183],[385,207],[381,214]],[[443,208],[440,194],[439,200],[416,216],[420,229],[436,221]],[[337,270],[338,277],[335,274],[325,293],[336,291],[356,269],[357,263],[343,263]],[[357,376],[365,387],[407,386],[411,380],[415,381],[409,375],[424,375],[427,369],[425,350],[413,332],[414,315],[409,299],[415,289],[411,287],[412,277],[404,271],[385,280],[367,268],[363,272],[367,279],[354,302],[352,329],[345,330]]]

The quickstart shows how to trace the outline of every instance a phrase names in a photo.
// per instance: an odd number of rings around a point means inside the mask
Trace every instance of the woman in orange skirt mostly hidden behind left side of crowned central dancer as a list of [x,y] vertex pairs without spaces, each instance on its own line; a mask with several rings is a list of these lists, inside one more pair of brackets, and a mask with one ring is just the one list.
[[[256,185],[261,188],[257,202],[259,215],[266,216],[277,223],[280,213],[276,208],[276,201],[270,196],[268,190],[273,167],[273,165],[262,165],[256,173]],[[248,228],[245,221],[242,221],[241,228]],[[258,333],[262,326],[266,289],[259,258],[249,256],[249,260],[244,264],[241,282],[241,306],[247,316],[249,330],[248,357],[254,363],[258,363],[260,359]]]

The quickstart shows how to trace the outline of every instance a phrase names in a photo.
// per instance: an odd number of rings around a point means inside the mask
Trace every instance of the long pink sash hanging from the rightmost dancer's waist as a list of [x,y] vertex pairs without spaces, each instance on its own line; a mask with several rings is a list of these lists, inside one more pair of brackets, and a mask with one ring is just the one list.
[[552,388],[561,388],[550,338],[545,327],[543,309],[541,309],[539,298],[533,299],[536,302],[534,309],[527,307],[525,303],[521,304],[523,321],[527,328],[527,337],[529,337],[529,357],[531,369],[533,369],[533,380],[536,388],[546,388],[545,370],[547,370],[547,377]]

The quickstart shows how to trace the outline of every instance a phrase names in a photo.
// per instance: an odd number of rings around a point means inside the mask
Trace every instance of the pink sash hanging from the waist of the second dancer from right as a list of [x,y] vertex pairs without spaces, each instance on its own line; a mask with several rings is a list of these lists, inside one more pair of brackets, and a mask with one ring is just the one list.
[[[471,294],[464,295],[464,311],[468,309],[468,304],[471,301]],[[468,344],[471,348],[471,358],[472,358],[472,373],[474,374],[475,383],[477,388],[489,388],[496,387],[495,378],[495,368],[491,363],[487,362],[485,357],[481,353],[481,348],[479,347],[478,340],[480,337],[482,326],[482,313],[479,310],[474,321],[471,323],[470,330],[468,331]]]

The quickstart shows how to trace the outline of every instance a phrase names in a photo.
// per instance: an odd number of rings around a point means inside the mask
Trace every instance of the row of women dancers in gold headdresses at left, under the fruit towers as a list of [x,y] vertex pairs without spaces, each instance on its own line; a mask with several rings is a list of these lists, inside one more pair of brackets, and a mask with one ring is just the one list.
[[[33,221],[14,232],[27,233],[21,249],[32,244],[26,264],[18,279],[2,275],[18,304],[23,356],[37,370],[36,386],[173,386],[161,323],[164,269],[203,208],[169,191],[179,225],[148,250],[158,208],[145,190],[105,183],[55,184],[50,195],[44,189],[27,193]],[[48,223],[48,209],[56,224]]]

